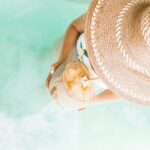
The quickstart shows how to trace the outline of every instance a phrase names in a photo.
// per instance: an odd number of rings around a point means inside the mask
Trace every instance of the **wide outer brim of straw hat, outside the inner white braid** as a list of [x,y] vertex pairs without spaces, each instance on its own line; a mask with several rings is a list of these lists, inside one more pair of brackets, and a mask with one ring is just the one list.
[[[129,68],[117,45],[117,17],[128,2],[92,1],[85,28],[87,51],[95,72],[114,93],[130,101],[150,105],[150,77]],[[134,0],[134,3],[142,1]]]

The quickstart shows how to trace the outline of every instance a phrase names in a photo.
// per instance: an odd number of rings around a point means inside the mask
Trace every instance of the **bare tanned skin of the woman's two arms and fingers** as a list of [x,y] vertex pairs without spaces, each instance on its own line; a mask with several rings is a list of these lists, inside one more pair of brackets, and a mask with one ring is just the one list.
[[[53,64],[53,67],[55,69],[57,69],[57,67],[59,67],[67,59],[71,50],[76,46],[76,42],[79,35],[83,33],[85,30],[85,20],[86,20],[86,13],[80,16],[79,18],[75,19],[67,28],[60,57],[58,58],[58,61]],[[49,73],[46,79],[47,89],[48,89],[50,79],[51,79],[51,74]],[[51,94],[53,94],[53,92],[54,91],[51,91]],[[93,99],[93,103],[99,104],[103,102],[111,102],[111,101],[119,100],[120,98],[121,97],[119,97],[113,91],[107,89],[104,92],[96,95]]]

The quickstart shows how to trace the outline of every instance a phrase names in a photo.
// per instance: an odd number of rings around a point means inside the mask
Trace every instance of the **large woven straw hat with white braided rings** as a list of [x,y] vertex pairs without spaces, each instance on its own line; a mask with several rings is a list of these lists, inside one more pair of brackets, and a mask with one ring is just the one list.
[[101,80],[122,98],[150,105],[150,0],[93,0],[85,35]]

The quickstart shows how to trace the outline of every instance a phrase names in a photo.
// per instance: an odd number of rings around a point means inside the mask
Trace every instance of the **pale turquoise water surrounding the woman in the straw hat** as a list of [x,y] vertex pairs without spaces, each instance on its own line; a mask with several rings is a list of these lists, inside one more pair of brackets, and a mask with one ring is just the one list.
[[64,111],[45,89],[51,48],[89,0],[0,0],[0,150],[149,150],[150,108]]

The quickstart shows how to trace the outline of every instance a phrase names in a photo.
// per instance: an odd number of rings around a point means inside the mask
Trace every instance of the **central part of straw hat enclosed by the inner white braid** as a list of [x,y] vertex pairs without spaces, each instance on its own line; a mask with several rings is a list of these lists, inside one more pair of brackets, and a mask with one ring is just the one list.
[[139,74],[150,76],[150,3],[129,2],[120,7],[118,14],[116,41],[122,62]]

